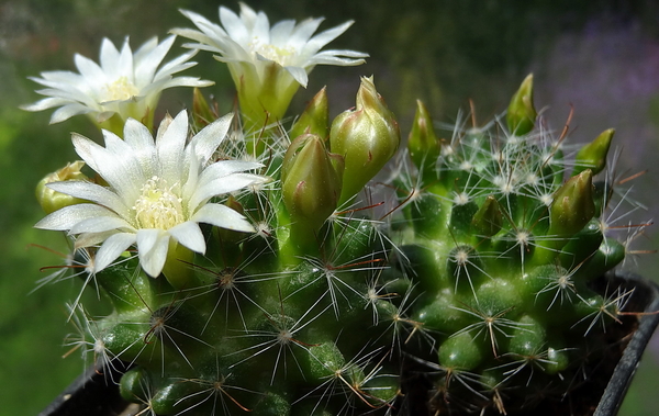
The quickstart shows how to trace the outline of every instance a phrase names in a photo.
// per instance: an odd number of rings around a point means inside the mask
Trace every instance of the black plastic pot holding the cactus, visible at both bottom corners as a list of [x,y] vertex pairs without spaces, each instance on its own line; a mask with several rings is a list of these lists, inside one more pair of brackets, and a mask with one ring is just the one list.
[[[629,310],[638,314],[638,326],[622,358],[615,366],[604,394],[599,400],[593,416],[615,416],[623,403],[623,398],[632,383],[638,368],[640,358],[659,325],[659,285],[650,280],[636,274],[616,274],[614,282],[621,284],[623,290],[634,290],[628,305]],[[119,380],[126,370],[122,362],[114,362],[112,372],[100,374],[96,369],[88,369],[76,379],[40,416],[115,416],[120,415],[127,406],[119,394],[119,386],[112,380]],[[593,401],[594,402],[594,401]],[[532,414],[535,414],[532,411]],[[557,415],[558,416],[558,415]],[[585,416],[585,415],[584,415]]]

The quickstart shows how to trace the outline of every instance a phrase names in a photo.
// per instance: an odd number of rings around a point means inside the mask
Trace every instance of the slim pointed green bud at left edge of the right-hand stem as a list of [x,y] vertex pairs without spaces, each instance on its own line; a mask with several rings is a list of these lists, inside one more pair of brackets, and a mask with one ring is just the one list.
[[[435,161],[442,151],[433,128],[433,120],[421,100],[416,100],[414,124],[407,137],[407,149],[414,165],[424,172],[434,172]],[[435,173],[436,175],[436,173]],[[426,176],[426,175],[424,175]]]

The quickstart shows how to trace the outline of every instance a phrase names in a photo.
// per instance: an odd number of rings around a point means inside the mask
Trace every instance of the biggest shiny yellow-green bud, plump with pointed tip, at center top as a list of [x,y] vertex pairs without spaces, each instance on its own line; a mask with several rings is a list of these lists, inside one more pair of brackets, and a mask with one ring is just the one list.
[[401,143],[394,115],[373,85],[361,78],[355,110],[340,113],[330,132],[332,151],[345,158],[339,203],[357,194],[393,157]]

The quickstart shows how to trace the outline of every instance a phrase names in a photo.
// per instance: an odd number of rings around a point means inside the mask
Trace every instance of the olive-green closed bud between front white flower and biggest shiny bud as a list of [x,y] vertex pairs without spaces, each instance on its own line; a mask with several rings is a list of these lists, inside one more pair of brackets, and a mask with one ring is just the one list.
[[323,139],[304,134],[293,140],[283,157],[283,203],[293,224],[292,233],[317,232],[332,215],[340,195],[343,157],[327,151]]

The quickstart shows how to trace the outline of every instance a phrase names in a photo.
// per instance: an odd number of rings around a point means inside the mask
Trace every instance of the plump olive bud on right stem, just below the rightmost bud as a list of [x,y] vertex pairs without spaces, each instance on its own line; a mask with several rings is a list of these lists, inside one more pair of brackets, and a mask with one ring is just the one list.
[[595,215],[592,179],[592,171],[587,169],[556,191],[549,207],[549,235],[571,237]]

